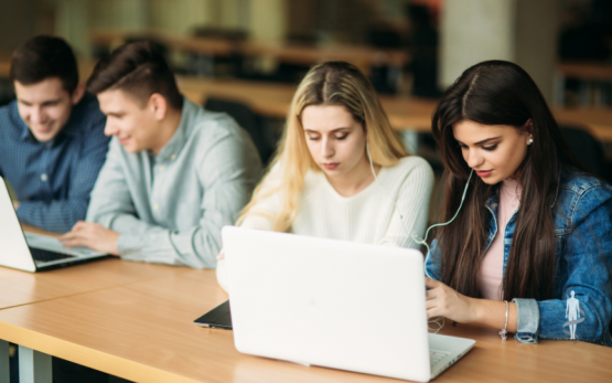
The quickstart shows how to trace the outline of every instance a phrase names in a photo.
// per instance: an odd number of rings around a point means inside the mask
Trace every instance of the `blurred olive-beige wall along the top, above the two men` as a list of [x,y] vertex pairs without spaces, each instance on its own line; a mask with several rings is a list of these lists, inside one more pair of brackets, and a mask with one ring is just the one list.
[[256,40],[281,41],[286,33],[288,0],[45,1],[56,10],[53,33],[67,39],[80,55],[88,55],[93,30],[154,30],[185,35],[197,26],[216,26],[244,29]]

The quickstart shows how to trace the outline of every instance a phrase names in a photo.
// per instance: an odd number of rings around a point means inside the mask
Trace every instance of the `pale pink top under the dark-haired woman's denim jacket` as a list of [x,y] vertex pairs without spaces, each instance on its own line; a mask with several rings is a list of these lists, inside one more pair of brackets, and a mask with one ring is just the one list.
[[518,182],[506,179],[500,188],[497,206],[497,234],[484,254],[479,272],[479,286],[484,299],[502,300],[502,277],[504,270],[504,233],[512,214],[518,209],[520,190]]

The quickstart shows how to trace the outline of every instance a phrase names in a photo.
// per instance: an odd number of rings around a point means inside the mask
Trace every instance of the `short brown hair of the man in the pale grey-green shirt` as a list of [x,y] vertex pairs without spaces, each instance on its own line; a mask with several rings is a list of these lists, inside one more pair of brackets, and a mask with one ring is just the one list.
[[183,107],[174,74],[161,52],[149,41],[124,44],[96,64],[87,81],[87,91],[98,94],[107,89],[125,91],[141,105],[158,93],[173,108]]

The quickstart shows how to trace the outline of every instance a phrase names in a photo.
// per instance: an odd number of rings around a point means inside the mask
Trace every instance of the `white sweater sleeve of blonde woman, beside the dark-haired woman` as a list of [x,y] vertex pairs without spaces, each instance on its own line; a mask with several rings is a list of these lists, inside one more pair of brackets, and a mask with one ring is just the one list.
[[420,157],[411,158],[404,183],[395,200],[391,222],[379,240],[384,246],[419,248],[416,238],[422,238],[429,214],[429,200],[433,188],[433,171]]

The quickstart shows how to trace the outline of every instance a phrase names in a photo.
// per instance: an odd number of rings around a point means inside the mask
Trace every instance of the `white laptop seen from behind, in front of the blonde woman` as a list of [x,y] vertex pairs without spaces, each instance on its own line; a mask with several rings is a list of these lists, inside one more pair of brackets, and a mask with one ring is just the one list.
[[418,251],[233,226],[222,233],[240,352],[427,382],[475,343],[428,332]]

